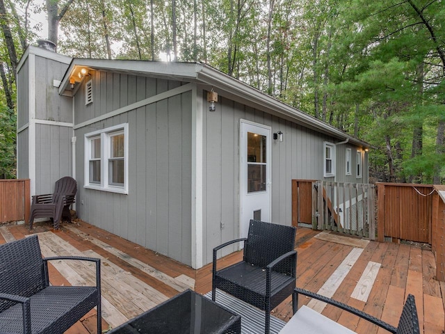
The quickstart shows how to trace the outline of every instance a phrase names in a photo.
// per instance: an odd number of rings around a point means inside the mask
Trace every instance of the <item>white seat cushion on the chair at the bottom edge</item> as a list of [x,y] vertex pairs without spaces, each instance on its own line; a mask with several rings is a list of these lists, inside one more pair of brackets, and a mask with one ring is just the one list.
[[280,334],[354,334],[355,332],[337,324],[337,322],[308,308],[306,305],[296,312],[289,322],[282,328]]

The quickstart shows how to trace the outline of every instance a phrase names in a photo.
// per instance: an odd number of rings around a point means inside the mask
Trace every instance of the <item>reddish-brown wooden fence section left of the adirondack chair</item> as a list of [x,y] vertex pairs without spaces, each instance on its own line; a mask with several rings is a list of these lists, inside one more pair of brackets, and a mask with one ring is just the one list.
[[0,180],[0,223],[29,220],[29,179]]

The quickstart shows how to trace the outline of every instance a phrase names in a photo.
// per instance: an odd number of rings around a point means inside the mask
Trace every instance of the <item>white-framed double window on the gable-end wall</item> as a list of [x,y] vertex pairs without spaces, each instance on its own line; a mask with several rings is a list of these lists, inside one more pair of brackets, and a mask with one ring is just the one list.
[[128,193],[128,123],[85,135],[84,187]]

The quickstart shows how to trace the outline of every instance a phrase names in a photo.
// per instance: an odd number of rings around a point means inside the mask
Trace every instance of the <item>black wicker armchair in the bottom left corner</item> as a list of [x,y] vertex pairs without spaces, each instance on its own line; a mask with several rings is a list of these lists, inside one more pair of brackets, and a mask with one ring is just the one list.
[[[50,286],[50,260],[95,262],[96,286]],[[37,235],[0,246],[0,333],[63,333],[97,306],[102,332],[100,260],[90,257],[42,259]]]

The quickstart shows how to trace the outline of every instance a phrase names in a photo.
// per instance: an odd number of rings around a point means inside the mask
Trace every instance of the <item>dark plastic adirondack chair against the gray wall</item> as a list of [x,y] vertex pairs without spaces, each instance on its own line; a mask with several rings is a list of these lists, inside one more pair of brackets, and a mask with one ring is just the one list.
[[58,230],[60,219],[71,221],[70,205],[74,203],[76,192],[76,180],[65,176],[54,184],[54,193],[33,196],[29,229],[32,230],[35,218],[51,218],[54,230]]

